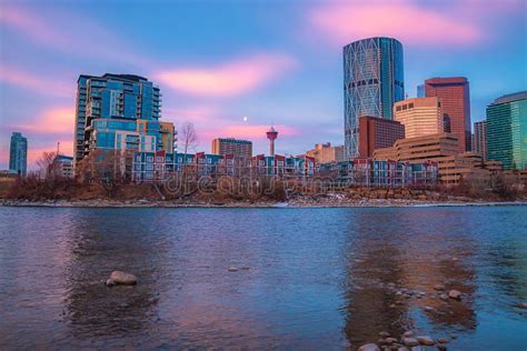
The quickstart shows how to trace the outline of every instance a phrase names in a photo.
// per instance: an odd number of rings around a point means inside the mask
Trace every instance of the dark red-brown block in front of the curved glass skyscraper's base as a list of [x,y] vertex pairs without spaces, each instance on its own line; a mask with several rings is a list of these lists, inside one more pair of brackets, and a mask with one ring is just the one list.
[[405,126],[400,122],[361,116],[359,118],[359,156],[370,158],[380,148],[392,147],[396,140],[405,139]]

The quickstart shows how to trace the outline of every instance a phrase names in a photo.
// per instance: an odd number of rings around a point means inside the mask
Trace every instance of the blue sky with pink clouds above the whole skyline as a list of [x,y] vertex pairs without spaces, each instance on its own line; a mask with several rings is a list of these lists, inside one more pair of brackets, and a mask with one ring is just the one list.
[[[12,131],[72,154],[79,74],[158,83],[162,119],[193,122],[198,151],[235,137],[277,153],[344,142],[342,47],[391,37],[406,93],[432,77],[467,77],[471,120],[527,89],[527,0],[0,0],[0,169]],[[245,119],[246,117],[246,119]]]

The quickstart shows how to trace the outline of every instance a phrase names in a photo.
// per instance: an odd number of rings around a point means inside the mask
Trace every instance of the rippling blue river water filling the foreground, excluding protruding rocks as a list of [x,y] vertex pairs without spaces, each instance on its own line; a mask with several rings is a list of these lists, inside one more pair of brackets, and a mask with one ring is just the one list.
[[[414,330],[523,350],[526,214],[0,208],[0,349],[355,349]],[[107,288],[112,270],[139,283]]]

